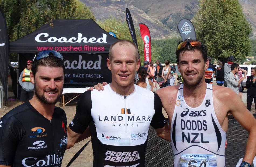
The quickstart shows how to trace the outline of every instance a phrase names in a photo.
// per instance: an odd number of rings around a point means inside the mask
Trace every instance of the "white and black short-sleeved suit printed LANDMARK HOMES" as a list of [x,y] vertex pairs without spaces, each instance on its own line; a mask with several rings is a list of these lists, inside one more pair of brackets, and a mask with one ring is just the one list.
[[134,86],[128,96],[115,93],[109,85],[104,91],[86,91],[77,104],[69,127],[83,133],[89,125],[95,167],[145,166],[149,126],[165,126],[159,96]]

